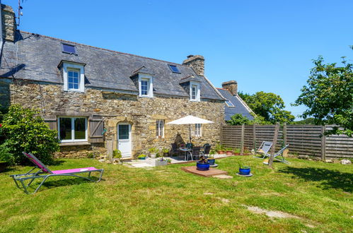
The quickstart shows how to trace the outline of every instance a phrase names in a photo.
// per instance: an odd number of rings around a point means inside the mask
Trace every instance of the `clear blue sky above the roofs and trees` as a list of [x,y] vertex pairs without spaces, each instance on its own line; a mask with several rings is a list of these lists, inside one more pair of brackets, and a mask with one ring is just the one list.
[[[17,0],[3,0],[17,11]],[[352,61],[353,1],[23,1],[20,30],[182,63],[205,58],[216,87],[274,92],[291,107],[311,59]]]

